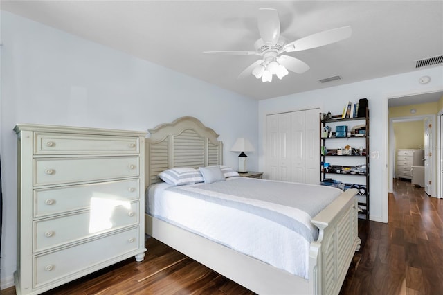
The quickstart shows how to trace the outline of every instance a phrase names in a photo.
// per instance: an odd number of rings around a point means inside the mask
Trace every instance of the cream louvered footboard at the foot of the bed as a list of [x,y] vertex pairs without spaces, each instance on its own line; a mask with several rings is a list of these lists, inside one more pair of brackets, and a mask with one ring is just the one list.
[[309,294],[338,294],[360,249],[356,189],[346,190],[312,220],[320,233],[309,253]]

